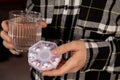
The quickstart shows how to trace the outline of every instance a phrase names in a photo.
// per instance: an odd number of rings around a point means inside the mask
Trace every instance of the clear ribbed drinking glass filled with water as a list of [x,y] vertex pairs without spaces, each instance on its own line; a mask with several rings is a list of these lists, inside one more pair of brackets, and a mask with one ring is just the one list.
[[27,52],[41,40],[41,14],[34,11],[12,10],[9,12],[9,32],[15,50]]

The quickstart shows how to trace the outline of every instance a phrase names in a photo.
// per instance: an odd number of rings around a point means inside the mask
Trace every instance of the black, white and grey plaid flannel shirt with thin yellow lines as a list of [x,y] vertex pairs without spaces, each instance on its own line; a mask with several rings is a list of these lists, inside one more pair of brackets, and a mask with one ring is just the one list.
[[[88,60],[84,69],[56,80],[120,79],[120,0],[28,0],[26,10],[41,12],[48,24],[44,37],[63,43],[85,41]],[[39,80],[39,73],[32,73]]]

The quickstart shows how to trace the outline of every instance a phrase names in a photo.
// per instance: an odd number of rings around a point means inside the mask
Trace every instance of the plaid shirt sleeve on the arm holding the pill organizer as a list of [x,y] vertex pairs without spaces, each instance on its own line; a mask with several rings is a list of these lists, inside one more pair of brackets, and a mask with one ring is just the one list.
[[[111,38],[111,37],[109,37]],[[106,70],[120,72],[120,37],[113,40],[84,40],[87,48],[87,61],[84,71]]]

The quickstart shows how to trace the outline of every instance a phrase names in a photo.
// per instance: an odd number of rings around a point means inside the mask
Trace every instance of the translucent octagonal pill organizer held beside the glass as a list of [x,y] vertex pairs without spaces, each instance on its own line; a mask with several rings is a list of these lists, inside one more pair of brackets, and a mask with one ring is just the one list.
[[29,65],[40,72],[55,69],[62,57],[51,53],[51,50],[56,47],[56,43],[49,41],[39,41],[35,43],[28,51]]

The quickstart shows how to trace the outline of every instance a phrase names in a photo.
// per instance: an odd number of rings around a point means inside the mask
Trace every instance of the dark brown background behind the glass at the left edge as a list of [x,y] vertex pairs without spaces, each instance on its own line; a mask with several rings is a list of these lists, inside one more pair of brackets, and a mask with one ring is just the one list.
[[[26,0],[0,0],[0,24],[8,19],[10,10],[25,9],[25,6]],[[0,80],[30,80],[27,53],[12,55],[2,41],[0,38]]]

